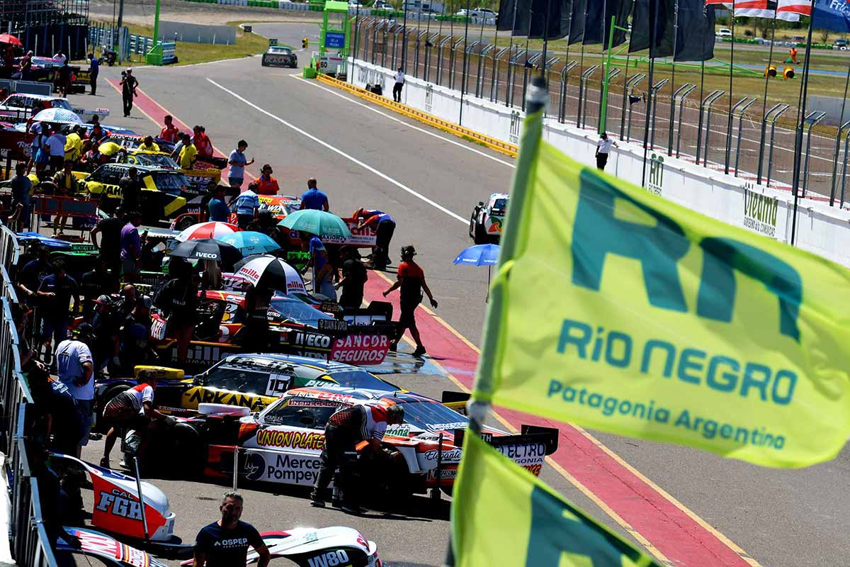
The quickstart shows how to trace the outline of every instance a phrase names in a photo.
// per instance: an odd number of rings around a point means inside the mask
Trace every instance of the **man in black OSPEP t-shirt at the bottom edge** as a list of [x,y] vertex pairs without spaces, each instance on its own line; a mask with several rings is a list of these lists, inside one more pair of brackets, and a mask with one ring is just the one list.
[[233,567],[244,565],[248,546],[259,554],[258,567],[267,567],[271,554],[254,526],[240,521],[242,496],[227,492],[222,498],[221,519],[201,528],[195,537],[193,567]]

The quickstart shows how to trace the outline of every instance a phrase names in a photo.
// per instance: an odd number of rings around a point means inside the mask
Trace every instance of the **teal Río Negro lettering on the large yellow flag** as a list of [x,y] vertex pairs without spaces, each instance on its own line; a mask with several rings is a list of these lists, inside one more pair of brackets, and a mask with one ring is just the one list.
[[[705,384],[718,392],[737,393],[743,398],[757,396],[759,400],[779,405],[791,403],[796,386],[796,373],[785,368],[774,369],[760,362],[735,360],[700,349],[679,349],[660,339],[638,344],[626,332],[609,331],[572,319],[564,319],[561,325],[558,354],[575,354],[582,360],[615,368],[633,367],[643,374],[695,386]],[[550,397],[563,391],[563,383],[553,380],[549,384]]]

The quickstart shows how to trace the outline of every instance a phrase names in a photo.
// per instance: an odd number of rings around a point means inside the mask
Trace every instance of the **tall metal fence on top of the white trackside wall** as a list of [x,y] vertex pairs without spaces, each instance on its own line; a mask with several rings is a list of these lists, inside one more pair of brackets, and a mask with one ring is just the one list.
[[[451,30],[445,24],[411,26],[408,21],[405,28],[399,20],[359,20],[352,42],[358,59],[390,69],[404,66],[411,77],[518,110],[524,110],[531,77],[544,66],[540,52],[530,51],[526,57],[519,46],[498,46],[481,26],[470,27],[464,42],[459,35],[462,26]],[[596,58],[596,62],[590,56],[582,58],[577,51],[547,57],[548,116],[579,128],[598,129],[603,70]],[[703,92],[684,81],[662,80],[650,86],[637,63],[636,58],[618,58],[609,71],[609,133],[643,143],[649,119],[651,149],[762,184],[791,185],[796,131],[793,118],[791,128],[782,119],[795,116],[795,105],[768,107],[762,116],[761,99],[754,103],[749,94],[735,94],[730,101],[723,90]],[[650,91],[655,96],[648,112]],[[845,195],[844,191],[850,123],[836,138],[817,133],[816,118],[809,116],[804,126],[800,188],[803,195],[834,193],[836,204],[842,205],[845,197],[850,199],[850,192]]]

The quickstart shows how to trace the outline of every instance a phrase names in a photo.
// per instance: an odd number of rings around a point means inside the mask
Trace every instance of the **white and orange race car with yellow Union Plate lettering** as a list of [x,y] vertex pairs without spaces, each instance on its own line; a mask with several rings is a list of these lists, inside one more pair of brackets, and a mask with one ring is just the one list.
[[[253,414],[244,407],[201,404],[200,415],[181,420],[175,430],[179,437],[151,439],[149,447],[157,454],[178,455],[176,462],[169,461],[169,468],[202,468],[214,479],[232,479],[234,451],[239,447],[237,473],[245,479],[309,486],[319,473],[328,418],[343,407],[362,404],[401,404],[405,409],[405,422],[388,428],[382,440],[391,455],[400,457],[385,462],[380,474],[360,476],[361,483],[372,485],[368,490],[405,496],[451,489],[462,456],[458,430],[467,427],[468,419],[437,400],[411,393],[294,388]],[[536,475],[546,456],[558,448],[558,430],[553,428],[523,426],[522,434],[511,435],[485,427],[484,437]],[[367,467],[368,462],[362,465]]]

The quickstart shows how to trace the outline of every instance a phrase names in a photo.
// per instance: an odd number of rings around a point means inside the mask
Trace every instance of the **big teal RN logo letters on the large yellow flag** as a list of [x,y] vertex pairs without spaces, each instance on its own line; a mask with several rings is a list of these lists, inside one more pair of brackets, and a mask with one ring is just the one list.
[[[615,218],[615,200],[629,201],[655,218],[656,224]],[[672,218],[635,201],[623,191],[581,173],[581,191],[575,209],[572,239],[576,286],[598,291],[609,254],[638,260],[643,270],[649,303],[660,309],[687,312],[678,261],[688,253],[690,241]],[[779,303],[779,332],[800,342],[797,317],[802,303],[802,278],[790,264],[743,242],[706,237],[700,241],[703,269],[696,313],[711,320],[732,320],[736,298],[734,272],[761,281]]]

